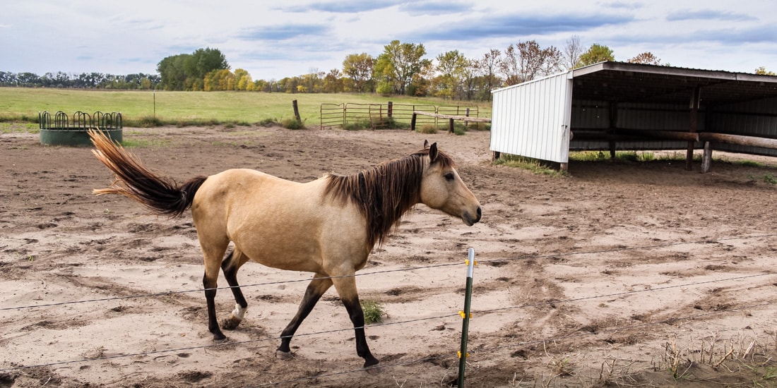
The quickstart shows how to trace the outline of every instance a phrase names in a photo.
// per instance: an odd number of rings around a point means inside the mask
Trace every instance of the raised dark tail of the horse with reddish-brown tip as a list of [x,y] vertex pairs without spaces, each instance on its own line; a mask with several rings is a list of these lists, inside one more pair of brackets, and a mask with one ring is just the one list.
[[92,190],[97,195],[121,194],[138,201],[154,213],[179,217],[189,209],[194,193],[207,178],[198,176],[179,185],[170,178],[148,171],[137,157],[113,143],[104,133],[89,130],[89,137],[96,147],[92,154],[116,174],[116,181],[109,188]]

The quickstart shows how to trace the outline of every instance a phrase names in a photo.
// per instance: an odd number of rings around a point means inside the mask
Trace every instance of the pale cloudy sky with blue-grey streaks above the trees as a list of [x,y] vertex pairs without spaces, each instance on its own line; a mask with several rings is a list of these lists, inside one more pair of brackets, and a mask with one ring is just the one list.
[[616,61],[650,51],[662,64],[777,71],[773,0],[340,0],[5,2],[0,71],[156,74],[165,57],[216,48],[232,71],[280,80],[343,69],[348,54],[392,40],[479,59],[535,40],[563,51],[577,36]]

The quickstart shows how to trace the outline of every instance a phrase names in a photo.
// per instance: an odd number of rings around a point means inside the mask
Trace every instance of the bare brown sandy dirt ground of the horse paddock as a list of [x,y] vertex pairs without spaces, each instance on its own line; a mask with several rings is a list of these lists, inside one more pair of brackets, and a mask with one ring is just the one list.
[[[468,248],[479,262],[469,386],[775,384],[774,167],[572,162],[570,176],[549,177],[492,165],[479,131],[164,127],[125,128],[124,139],[179,182],[227,168],[301,182],[351,174],[428,139],[455,159],[483,220],[416,206],[375,249],[357,285],[385,307],[366,329],[378,373],[359,370],[333,289],[284,361],[277,337],[310,274],[244,266],[246,320],[216,343],[188,213],[169,220],[92,195],[112,176],[89,147],[0,134],[0,386],[450,386]],[[217,305],[227,317],[227,289]]]

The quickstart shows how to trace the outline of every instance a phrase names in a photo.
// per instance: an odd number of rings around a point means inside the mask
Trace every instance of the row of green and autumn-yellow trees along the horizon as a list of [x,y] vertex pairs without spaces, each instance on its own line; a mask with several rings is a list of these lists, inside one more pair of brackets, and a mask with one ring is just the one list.
[[[224,54],[215,48],[197,49],[192,54],[165,57],[157,64],[157,74],[117,76],[99,73],[44,74],[0,71],[0,86],[57,88],[126,88],[171,91],[259,91],[286,93],[362,92],[382,95],[435,96],[444,99],[488,101],[491,91],[531,81],[560,71],[601,61],[615,61],[613,51],[598,43],[584,47],[578,36],[564,47],[542,47],[536,40],[518,41],[504,50],[490,49],[482,57],[468,58],[450,50],[434,59],[426,57],[422,43],[392,40],[383,52],[348,54],[342,68],[276,79],[254,80],[245,69],[230,70]],[[650,52],[627,60],[657,64]],[[669,66],[669,64],[663,64]],[[757,74],[774,74],[761,67]]]

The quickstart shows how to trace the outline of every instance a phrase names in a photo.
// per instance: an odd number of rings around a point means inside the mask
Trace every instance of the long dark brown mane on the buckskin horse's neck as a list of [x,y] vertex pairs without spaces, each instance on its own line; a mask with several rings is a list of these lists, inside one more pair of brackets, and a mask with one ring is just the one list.
[[[420,202],[423,157],[428,154],[426,148],[354,175],[329,174],[324,194],[354,203],[367,219],[369,246],[380,246],[399,225],[402,215]],[[444,168],[454,166],[453,160],[439,151],[434,163],[441,163]]]

